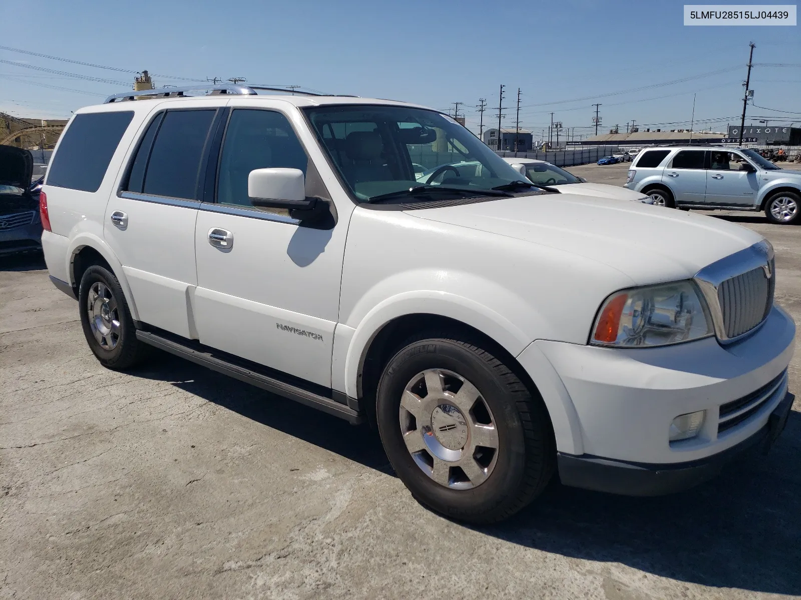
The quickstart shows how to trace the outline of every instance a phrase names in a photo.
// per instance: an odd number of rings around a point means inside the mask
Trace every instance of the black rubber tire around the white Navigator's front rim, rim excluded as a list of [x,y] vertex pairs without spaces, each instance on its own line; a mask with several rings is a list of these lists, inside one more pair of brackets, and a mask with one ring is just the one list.
[[[421,470],[400,432],[400,397],[409,381],[426,369],[446,369],[476,386],[492,411],[498,433],[496,464],[481,485],[469,490],[441,486]],[[427,506],[448,506],[453,514],[481,514],[512,498],[525,473],[525,438],[509,390],[481,359],[454,342],[426,339],[400,350],[380,378],[376,418],[381,440],[396,474]]]

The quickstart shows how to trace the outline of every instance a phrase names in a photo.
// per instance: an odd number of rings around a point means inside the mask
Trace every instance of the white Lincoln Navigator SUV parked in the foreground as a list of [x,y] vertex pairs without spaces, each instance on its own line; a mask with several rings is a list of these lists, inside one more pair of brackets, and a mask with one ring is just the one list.
[[680,490],[781,432],[795,325],[759,234],[537,186],[422,106],[197,91],[78,110],[50,164],[47,267],[104,366],[155,346],[368,420],[470,522],[555,472]]

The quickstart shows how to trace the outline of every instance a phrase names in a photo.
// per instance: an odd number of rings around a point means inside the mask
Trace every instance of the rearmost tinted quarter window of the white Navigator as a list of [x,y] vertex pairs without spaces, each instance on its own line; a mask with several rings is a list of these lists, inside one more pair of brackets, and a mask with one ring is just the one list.
[[96,192],[133,112],[75,116],[50,162],[48,186]]

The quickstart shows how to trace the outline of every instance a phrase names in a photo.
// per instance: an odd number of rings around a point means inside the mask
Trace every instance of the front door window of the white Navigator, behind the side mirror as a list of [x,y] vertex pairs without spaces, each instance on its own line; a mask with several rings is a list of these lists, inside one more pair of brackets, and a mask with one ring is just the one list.
[[308,158],[288,119],[273,110],[233,110],[219,158],[217,202],[252,206],[248,174],[271,167],[306,174]]

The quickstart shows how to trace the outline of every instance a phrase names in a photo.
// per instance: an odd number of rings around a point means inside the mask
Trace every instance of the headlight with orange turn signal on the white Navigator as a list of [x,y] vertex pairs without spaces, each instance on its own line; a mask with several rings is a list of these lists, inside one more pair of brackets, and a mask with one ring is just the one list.
[[615,292],[601,305],[590,343],[649,347],[706,338],[711,319],[690,281]]

